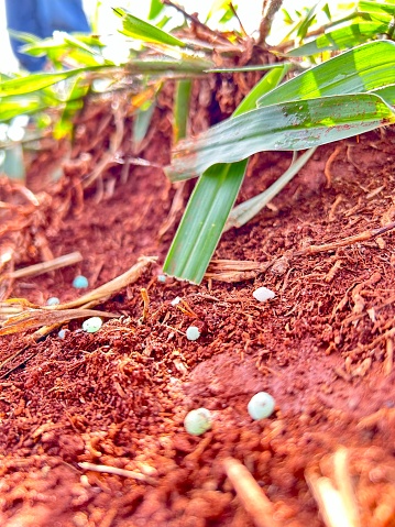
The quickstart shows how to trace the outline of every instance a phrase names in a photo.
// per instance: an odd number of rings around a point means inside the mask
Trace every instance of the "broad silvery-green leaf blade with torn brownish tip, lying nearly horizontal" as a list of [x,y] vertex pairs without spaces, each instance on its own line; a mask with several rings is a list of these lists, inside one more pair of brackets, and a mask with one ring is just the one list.
[[273,105],[182,141],[166,172],[172,180],[187,179],[216,163],[233,163],[268,150],[306,150],[393,122],[394,110],[373,94]]

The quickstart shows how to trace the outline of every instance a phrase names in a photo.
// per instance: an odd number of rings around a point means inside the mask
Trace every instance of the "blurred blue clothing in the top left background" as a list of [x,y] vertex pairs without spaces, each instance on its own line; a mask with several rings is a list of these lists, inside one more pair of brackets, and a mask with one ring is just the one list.
[[[54,31],[90,33],[83,0],[6,0],[9,30],[31,33],[40,39],[51,37]],[[10,36],[12,51],[21,66],[30,72],[43,68],[45,57],[20,53],[23,45]]]

